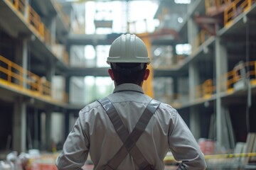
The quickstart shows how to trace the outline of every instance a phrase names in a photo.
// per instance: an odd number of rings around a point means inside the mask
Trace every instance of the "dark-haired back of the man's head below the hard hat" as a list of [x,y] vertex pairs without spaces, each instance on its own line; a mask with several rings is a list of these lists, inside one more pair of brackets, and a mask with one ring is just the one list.
[[114,81],[117,85],[132,83],[141,85],[146,72],[146,64],[142,63],[111,63]]

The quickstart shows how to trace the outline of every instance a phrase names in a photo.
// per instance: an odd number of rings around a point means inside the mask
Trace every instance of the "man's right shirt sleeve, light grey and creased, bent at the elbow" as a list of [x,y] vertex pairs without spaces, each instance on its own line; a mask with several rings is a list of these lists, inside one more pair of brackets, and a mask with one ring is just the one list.
[[206,169],[206,161],[195,137],[186,123],[175,110],[169,132],[169,147],[174,159],[181,162],[178,170],[203,170]]

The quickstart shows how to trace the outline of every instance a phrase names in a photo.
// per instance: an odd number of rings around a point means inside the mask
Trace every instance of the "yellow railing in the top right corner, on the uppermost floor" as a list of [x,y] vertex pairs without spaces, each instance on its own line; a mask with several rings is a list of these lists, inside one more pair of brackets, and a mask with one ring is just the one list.
[[247,11],[251,8],[252,3],[255,0],[235,0],[225,8],[224,11],[224,26],[229,26],[232,23],[233,19],[238,16],[240,13]]

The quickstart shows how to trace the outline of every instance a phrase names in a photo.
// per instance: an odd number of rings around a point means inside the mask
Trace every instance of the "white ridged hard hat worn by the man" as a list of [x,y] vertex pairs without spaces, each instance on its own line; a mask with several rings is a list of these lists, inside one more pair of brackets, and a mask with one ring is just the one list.
[[110,63],[145,63],[149,64],[146,45],[136,35],[126,34],[112,42],[107,64]]

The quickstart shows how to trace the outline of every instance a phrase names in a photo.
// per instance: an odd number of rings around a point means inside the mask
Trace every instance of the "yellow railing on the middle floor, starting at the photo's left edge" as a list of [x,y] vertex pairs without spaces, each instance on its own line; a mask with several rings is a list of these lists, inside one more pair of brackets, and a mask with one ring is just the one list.
[[[51,84],[44,77],[23,69],[18,64],[0,55],[0,82],[14,87],[18,90],[23,90],[34,96],[46,97],[54,100],[51,96]],[[63,92],[62,102],[68,101],[68,94]]]

